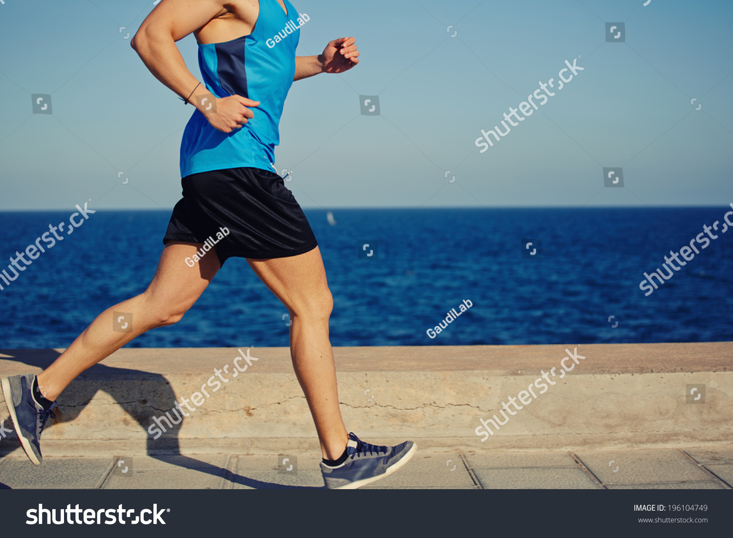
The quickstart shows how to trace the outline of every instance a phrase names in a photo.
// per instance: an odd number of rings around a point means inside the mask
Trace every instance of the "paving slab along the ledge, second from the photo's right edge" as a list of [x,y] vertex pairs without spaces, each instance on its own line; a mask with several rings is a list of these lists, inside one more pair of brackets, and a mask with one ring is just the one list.
[[701,468],[676,450],[576,452],[575,455],[604,484],[710,481]]

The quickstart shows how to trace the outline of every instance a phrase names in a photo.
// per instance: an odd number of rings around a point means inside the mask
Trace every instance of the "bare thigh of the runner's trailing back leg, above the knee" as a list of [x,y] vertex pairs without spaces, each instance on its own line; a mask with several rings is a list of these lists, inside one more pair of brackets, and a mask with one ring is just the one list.
[[163,248],[158,269],[145,292],[154,303],[183,313],[196,302],[221,267],[213,248],[199,262],[193,262],[199,248],[200,243],[180,241],[171,241]]

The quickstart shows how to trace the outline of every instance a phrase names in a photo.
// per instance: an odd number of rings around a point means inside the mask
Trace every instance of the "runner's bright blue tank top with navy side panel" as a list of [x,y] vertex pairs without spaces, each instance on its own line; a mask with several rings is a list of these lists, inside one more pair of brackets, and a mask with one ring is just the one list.
[[[295,76],[295,48],[308,21],[288,0],[259,0],[252,33],[224,43],[199,44],[199,67],[216,97],[241,95],[259,101],[243,128],[222,133],[198,109],[183,131],[181,177],[210,170],[251,166],[273,171],[285,97]],[[303,17],[305,20],[303,20]]]

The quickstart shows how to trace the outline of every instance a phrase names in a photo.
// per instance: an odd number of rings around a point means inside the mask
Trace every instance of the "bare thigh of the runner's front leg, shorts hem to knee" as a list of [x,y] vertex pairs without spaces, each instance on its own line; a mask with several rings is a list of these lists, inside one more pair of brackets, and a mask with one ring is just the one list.
[[328,309],[331,292],[320,248],[287,258],[247,259],[257,276],[295,314]]

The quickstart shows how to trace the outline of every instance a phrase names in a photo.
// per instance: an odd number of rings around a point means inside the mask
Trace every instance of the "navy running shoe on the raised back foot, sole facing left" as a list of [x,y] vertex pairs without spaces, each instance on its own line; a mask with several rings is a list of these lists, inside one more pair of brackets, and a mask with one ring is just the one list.
[[40,465],[43,461],[39,444],[41,432],[49,416],[56,418],[53,411],[56,402],[46,410],[35,401],[32,395],[35,378],[32,374],[3,377],[0,386],[23,450],[34,465]]

